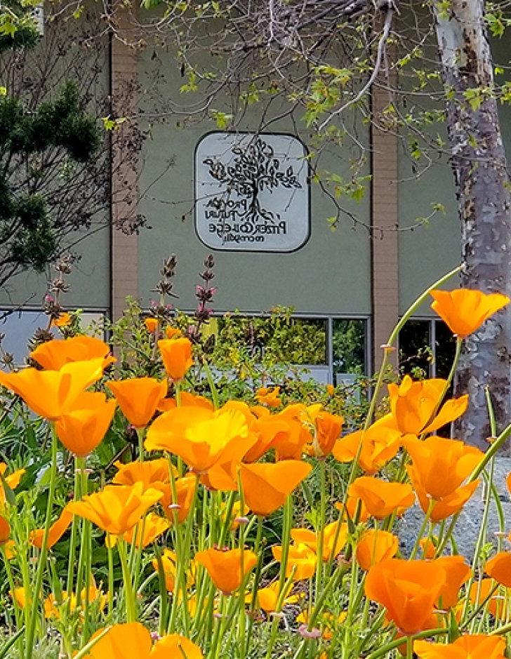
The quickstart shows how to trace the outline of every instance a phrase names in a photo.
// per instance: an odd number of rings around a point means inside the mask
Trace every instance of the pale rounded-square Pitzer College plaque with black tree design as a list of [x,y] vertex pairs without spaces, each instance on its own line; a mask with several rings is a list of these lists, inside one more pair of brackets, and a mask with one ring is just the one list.
[[293,135],[208,133],[195,151],[195,228],[218,250],[292,252],[310,234],[307,150]]

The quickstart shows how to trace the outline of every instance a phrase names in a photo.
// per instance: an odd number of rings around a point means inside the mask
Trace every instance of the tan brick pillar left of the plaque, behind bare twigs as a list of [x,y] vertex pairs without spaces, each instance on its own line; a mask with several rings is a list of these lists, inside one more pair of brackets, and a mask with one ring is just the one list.
[[[129,8],[114,11],[123,41],[112,39],[112,118],[128,119],[112,131],[112,319],[121,317],[126,296],[138,297],[138,239],[131,233],[138,215],[137,61]],[[126,41],[126,43],[124,42]]]

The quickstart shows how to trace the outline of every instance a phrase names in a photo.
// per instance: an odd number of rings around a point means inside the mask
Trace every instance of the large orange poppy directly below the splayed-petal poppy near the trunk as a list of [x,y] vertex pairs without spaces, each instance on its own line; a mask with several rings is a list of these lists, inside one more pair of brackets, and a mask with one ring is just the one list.
[[436,436],[425,441],[409,439],[404,444],[412,459],[407,470],[423,511],[430,510],[432,521],[440,521],[461,510],[479,481],[462,483],[484,453],[463,441]]

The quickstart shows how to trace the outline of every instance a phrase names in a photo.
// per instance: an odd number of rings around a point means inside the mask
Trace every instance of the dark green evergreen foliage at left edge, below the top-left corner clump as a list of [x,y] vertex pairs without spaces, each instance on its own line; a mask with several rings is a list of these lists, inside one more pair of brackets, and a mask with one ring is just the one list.
[[[85,163],[99,145],[95,119],[81,109],[74,84],[65,84],[55,100],[41,102],[30,111],[18,98],[0,95],[2,262],[41,272],[58,251],[58,227],[37,191],[45,168],[41,155],[60,149],[74,161]],[[20,186],[22,176],[26,182]]]

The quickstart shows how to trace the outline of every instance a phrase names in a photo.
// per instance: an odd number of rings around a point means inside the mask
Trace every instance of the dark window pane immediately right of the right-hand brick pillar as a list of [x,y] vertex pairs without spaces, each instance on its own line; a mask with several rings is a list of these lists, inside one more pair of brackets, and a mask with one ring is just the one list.
[[409,320],[399,332],[399,371],[413,378],[428,378],[432,363],[430,321]]

